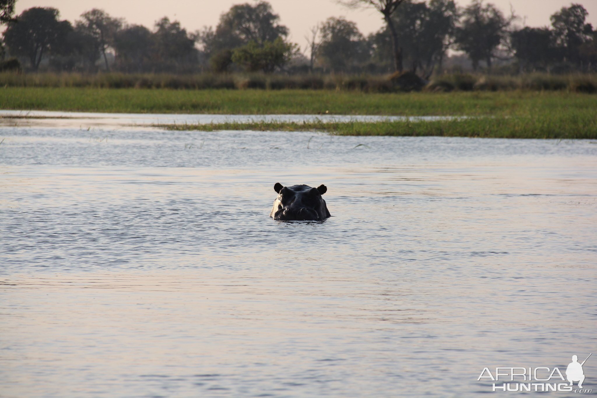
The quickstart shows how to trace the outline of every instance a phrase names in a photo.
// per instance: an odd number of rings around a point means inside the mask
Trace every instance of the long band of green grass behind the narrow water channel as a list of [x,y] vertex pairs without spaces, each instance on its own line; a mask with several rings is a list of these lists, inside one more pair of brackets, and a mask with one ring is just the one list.
[[365,93],[330,90],[110,90],[0,88],[0,109],[232,115],[549,115],[597,109],[597,95],[573,92]]

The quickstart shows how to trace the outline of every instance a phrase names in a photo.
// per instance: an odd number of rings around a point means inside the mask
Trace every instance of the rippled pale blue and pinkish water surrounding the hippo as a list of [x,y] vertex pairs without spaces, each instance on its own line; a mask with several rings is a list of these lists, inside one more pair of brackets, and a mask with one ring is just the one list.
[[597,347],[592,141],[39,126],[0,129],[0,396],[476,396]]

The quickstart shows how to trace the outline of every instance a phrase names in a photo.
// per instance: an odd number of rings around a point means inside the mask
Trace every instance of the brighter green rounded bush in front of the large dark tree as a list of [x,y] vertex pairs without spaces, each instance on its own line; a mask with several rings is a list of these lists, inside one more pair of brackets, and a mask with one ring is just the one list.
[[232,61],[242,65],[249,72],[272,73],[276,68],[283,67],[290,61],[296,51],[296,45],[284,42],[282,38],[266,41],[262,45],[254,41],[242,47],[235,48]]

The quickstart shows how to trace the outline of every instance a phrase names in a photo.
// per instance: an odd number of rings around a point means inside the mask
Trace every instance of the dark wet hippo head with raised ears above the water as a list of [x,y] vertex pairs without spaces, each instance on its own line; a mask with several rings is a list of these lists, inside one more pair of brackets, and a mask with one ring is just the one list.
[[317,188],[308,185],[284,187],[276,183],[273,190],[278,192],[278,198],[273,202],[272,212],[269,214],[274,220],[324,220],[330,217],[325,200],[321,197],[328,190],[325,185]]

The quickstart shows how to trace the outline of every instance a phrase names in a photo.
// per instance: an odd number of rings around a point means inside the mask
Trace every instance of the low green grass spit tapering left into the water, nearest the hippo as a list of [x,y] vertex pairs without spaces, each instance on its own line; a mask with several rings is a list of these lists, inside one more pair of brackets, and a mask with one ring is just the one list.
[[403,135],[482,138],[597,138],[597,116],[559,113],[542,116],[498,116],[444,121],[382,122],[226,122],[221,124],[159,125],[170,130],[322,131],[336,135]]

